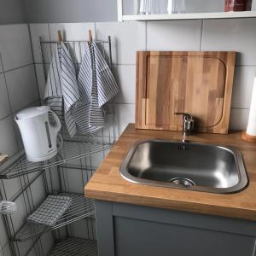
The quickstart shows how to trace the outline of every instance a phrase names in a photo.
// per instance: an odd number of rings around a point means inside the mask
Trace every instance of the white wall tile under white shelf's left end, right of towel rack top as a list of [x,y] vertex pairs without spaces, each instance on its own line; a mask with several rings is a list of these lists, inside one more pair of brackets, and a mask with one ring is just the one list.
[[99,22],[96,23],[96,38],[112,40],[114,64],[136,64],[137,50],[146,49],[145,22]]

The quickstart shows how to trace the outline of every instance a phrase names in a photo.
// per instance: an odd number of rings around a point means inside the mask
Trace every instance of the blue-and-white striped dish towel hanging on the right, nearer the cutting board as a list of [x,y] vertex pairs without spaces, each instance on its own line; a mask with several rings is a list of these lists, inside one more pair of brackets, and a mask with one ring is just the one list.
[[78,84],[81,102],[74,119],[84,133],[100,130],[104,127],[102,107],[118,94],[119,87],[95,43],[85,45]]

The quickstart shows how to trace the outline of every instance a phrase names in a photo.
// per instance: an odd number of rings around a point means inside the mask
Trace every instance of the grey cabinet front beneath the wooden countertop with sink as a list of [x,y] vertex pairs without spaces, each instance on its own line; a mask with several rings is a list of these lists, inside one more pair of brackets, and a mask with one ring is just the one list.
[[254,222],[96,201],[99,256],[256,256]]

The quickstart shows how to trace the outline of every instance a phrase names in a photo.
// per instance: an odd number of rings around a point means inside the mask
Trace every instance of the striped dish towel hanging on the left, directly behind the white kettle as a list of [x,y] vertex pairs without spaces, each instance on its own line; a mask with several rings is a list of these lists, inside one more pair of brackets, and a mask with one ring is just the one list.
[[49,65],[44,99],[56,113],[61,113],[64,108],[67,131],[73,137],[77,132],[73,107],[79,101],[79,88],[72,57],[63,43],[55,47]]

